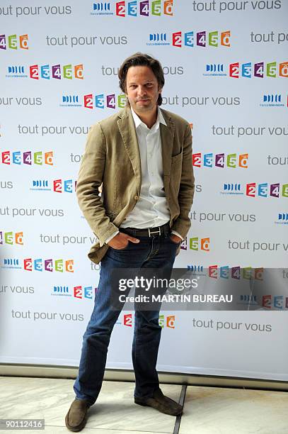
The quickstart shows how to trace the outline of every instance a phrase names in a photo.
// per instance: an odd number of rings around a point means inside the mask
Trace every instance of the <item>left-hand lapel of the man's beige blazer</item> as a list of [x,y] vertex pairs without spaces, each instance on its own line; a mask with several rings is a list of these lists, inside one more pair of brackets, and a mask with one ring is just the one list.
[[141,160],[137,134],[130,109],[126,108],[122,111],[122,113],[120,113],[119,119],[117,120],[117,125],[120,130],[125,149],[129,156],[129,160],[132,164],[135,177],[137,179],[137,193],[140,194],[142,183]]

